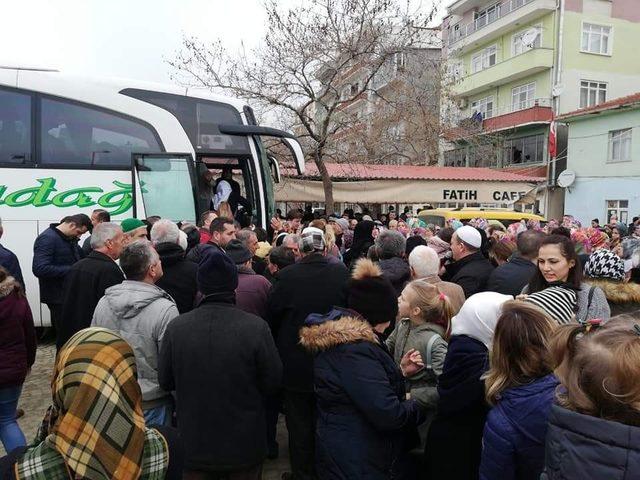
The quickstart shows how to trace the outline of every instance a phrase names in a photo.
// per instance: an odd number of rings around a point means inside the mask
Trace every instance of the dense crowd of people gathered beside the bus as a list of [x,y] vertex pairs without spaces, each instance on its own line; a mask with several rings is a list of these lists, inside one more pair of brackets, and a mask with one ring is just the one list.
[[57,354],[33,441],[16,416],[36,333],[0,247],[0,478],[260,479],[281,413],[285,480],[640,469],[638,218],[292,210],[267,231],[216,206],[37,238]]

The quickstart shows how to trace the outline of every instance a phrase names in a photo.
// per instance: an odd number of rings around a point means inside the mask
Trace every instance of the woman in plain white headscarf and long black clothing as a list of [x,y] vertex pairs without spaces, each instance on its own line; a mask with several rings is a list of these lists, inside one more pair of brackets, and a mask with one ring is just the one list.
[[438,413],[425,447],[425,479],[478,478],[482,431],[489,411],[483,374],[502,304],[510,295],[477,293],[467,299],[451,323],[451,337],[438,378]]

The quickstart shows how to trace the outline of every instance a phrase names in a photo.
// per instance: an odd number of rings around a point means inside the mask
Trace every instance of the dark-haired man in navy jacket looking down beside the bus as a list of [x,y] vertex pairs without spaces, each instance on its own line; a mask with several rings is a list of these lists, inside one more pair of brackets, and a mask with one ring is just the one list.
[[64,297],[64,280],[74,263],[84,256],[78,240],[91,228],[84,213],[52,223],[33,244],[33,274],[40,284],[40,301],[49,307],[51,325],[59,327]]

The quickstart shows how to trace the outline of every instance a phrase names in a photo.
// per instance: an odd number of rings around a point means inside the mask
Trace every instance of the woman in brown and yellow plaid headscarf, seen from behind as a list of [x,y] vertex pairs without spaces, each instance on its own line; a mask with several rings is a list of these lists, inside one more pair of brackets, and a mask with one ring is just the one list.
[[87,328],[71,337],[56,357],[51,389],[37,440],[0,459],[0,478],[182,478],[177,435],[145,426],[133,350],[118,334]]

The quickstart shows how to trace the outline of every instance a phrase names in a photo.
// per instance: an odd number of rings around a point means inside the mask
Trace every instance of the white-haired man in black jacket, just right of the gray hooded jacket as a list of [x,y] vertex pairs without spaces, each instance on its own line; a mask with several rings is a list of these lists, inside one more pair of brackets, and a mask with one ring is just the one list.
[[164,272],[156,285],[171,295],[181,314],[191,311],[198,294],[198,264],[185,258],[180,246],[180,229],[171,220],[158,220],[151,227],[151,241],[160,255]]

